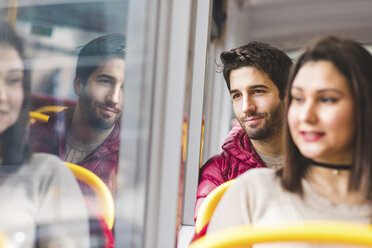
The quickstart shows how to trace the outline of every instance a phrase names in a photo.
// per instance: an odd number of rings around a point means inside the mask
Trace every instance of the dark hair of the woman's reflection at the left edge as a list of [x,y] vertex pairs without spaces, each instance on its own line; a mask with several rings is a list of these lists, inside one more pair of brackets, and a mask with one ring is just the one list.
[[[0,19],[0,45],[13,47],[24,61],[23,44],[13,28]],[[17,121],[0,134],[0,157],[3,165],[21,165],[30,157],[27,125],[30,106],[30,70],[24,64],[24,99]]]

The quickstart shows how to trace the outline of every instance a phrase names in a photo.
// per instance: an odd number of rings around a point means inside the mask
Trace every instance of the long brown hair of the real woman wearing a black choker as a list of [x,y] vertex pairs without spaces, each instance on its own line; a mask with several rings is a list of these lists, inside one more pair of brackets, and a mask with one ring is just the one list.
[[[328,61],[347,79],[354,99],[355,137],[354,158],[349,190],[360,191],[372,199],[372,56],[358,42],[327,36],[310,43],[289,75],[286,112],[292,101],[289,94],[298,71],[308,62]],[[301,179],[309,162],[300,153],[285,122],[285,164],[278,171],[282,186],[302,194]]]

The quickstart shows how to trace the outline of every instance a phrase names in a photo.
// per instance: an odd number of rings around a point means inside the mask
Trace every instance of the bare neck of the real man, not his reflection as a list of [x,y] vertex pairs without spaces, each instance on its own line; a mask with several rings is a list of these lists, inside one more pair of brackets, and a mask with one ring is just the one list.
[[264,140],[252,140],[251,143],[253,148],[266,156],[269,157],[281,157],[283,156],[283,144],[282,144],[282,134],[278,134],[275,137],[270,137]]

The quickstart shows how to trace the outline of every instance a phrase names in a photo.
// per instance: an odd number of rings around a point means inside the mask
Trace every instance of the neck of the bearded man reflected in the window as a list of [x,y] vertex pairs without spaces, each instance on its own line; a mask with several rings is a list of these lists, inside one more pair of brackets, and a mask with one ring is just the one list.
[[85,145],[99,143],[104,141],[114,129],[114,126],[107,130],[92,127],[92,125],[81,118],[81,116],[78,108],[76,108],[69,129],[71,136],[79,143]]

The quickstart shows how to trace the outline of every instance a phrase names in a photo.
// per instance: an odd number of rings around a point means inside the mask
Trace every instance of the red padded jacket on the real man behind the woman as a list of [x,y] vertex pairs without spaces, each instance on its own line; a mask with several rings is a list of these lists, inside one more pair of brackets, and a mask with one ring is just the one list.
[[239,122],[236,121],[222,145],[222,152],[210,158],[201,168],[194,220],[196,220],[204,198],[214,188],[251,168],[260,167],[266,167],[266,165],[253,149],[251,141]]

